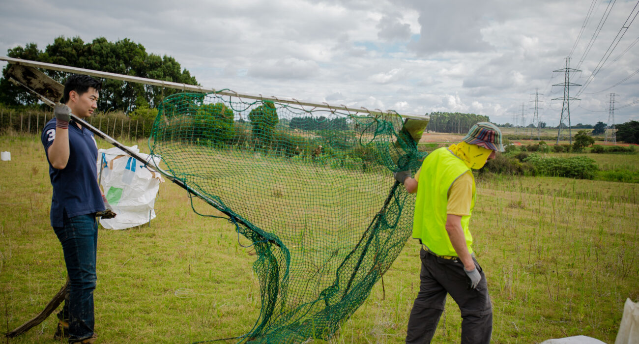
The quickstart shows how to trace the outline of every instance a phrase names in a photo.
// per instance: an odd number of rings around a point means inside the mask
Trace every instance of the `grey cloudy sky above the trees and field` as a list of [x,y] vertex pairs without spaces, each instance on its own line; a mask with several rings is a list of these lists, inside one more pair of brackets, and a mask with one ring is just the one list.
[[[207,88],[557,125],[639,120],[636,0],[0,1],[0,56],[57,36],[141,43]],[[0,68],[5,65],[0,62]]]

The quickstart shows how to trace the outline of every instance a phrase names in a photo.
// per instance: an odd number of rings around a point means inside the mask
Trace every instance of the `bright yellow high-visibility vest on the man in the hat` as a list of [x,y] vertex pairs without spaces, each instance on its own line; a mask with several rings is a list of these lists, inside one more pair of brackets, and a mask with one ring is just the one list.
[[[422,244],[440,256],[458,256],[446,231],[448,191],[455,180],[469,170],[470,168],[448,148],[438,148],[422,162],[415,200],[413,238],[421,239]],[[470,201],[470,214],[474,207],[475,192]],[[473,237],[468,230],[469,220],[470,215],[462,216],[461,227],[464,230],[468,252],[473,253]]]

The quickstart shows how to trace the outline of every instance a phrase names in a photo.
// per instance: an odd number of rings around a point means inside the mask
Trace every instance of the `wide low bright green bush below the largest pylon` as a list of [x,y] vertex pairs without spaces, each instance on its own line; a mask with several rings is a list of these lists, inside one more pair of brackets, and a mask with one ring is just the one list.
[[526,161],[534,167],[535,175],[593,179],[599,170],[595,160],[589,157],[542,158],[539,155],[530,155]]

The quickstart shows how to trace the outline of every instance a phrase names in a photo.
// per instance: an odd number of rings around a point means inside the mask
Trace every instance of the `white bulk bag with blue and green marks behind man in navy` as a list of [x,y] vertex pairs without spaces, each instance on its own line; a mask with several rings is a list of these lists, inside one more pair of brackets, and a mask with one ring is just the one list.
[[[132,152],[149,161],[149,165],[160,164],[160,157],[150,161],[148,154],[139,153],[137,146]],[[118,214],[113,219],[100,219],[100,224],[110,230],[124,230],[148,223],[155,218],[155,196],[164,182],[162,175],[151,172],[142,162],[130,157],[119,148],[98,150],[98,180],[107,201]]]

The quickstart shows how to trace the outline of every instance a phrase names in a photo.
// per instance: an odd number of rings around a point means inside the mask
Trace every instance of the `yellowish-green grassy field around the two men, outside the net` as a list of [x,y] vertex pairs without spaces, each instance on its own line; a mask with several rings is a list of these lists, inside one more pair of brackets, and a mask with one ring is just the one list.
[[[145,141],[137,144],[148,150]],[[107,148],[98,140],[101,148]],[[36,136],[0,136],[0,326],[42,310],[65,281],[49,225],[51,187]],[[590,154],[594,157],[594,154]],[[606,155],[607,156],[607,155]],[[610,155],[637,166],[639,155]],[[636,170],[636,169],[635,169]],[[639,300],[639,184],[495,176],[477,180],[471,222],[488,278],[495,343],[538,343],[584,334],[615,340],[627,297]],[[196,202],[196,208],[218,214]],[[149,225],[101,230],[96,332],[100,343],[191,343],[240,336],[258,318],[259,284],[247,240],[224,219],[194,214],[183,189],[164,183]],[[218,214],[220,215],[220,214]],[[419,288],[410,240],[332,343],[401,343]],[[57,318],[8,343],[55,343]],[[434,343],[458,343],[449,298]],[[225,342],[225,341],[222,341]],[[226,341],[226,342],[233,342]]]

